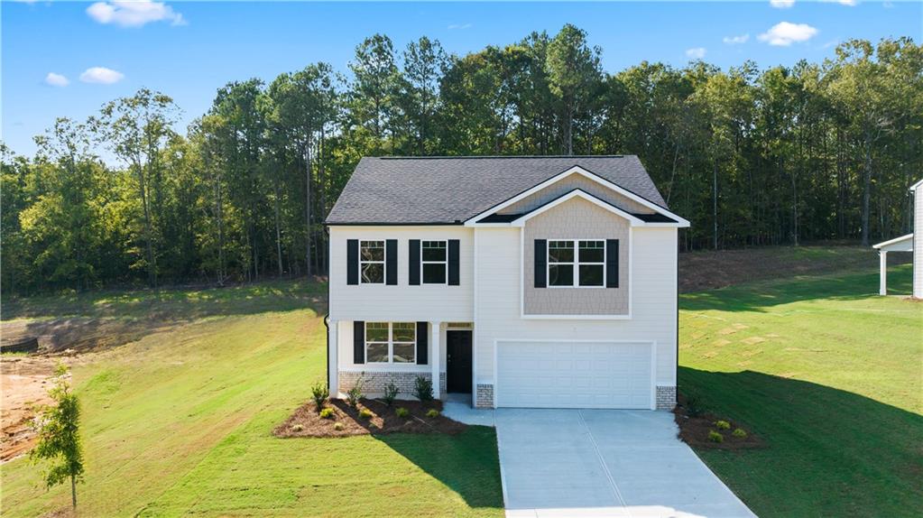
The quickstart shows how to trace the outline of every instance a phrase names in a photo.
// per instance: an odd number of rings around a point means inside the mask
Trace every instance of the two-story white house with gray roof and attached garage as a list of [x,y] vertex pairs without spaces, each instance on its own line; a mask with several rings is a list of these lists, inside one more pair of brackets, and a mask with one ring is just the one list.
[[635,156],[364,158],[330,230],[330,387],[668,409],[677,229]]

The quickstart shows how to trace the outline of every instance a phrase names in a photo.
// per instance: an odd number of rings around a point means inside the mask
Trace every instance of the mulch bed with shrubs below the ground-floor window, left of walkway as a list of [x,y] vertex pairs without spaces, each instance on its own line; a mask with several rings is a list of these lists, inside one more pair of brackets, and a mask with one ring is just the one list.
[[[395,401],[388,406],[374,399],[363,399],[354,408],[340,399],[330,400],[327,408],[333,409],[333,416],[323,418],[313,402],[307,402],[294,411],[281,425],[272,430],[276,437],[350,437],[354,435],[383,435],[389,433],[462,433],[467,425],[442,416],[442,403],[432,401]],[[371,418],[359,416],[363,409],[372,412]],[[398,417],[396,410],[406,408],[410,415]],[[431,409],[439,411],[436,417],[427,417]],[[336,424],[341,423],[341,429]]]

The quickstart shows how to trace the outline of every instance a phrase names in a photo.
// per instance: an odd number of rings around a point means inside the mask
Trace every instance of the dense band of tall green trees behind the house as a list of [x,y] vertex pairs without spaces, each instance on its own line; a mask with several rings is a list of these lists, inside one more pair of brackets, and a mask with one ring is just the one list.
[[[7,294],[327,271],[323,220],[364,155],[637,154],[692,227],[681,249],[906,232],[923,175],[923,48],[841,43],[820,64],[609,73],[565,26],[447,54],[426,37],[234,80],[176,127],[139,90],[2,154]],[[100,158],[104,155],[107,161]]]

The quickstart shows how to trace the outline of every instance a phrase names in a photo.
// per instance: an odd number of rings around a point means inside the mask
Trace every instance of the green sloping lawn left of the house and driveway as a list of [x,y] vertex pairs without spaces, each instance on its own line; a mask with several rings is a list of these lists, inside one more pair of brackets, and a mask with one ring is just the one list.
[[[5,317],[156,313],[171,331],[95,355],[84,408],[87,515],[499,515],[496,437],[280,440],[270,430],[324,376],[322,286],[18,301]],[[318,307],[322,312],[322,307]],[[231,315],[217,317],[215,315]],[[212,317],[214,316],[214,317]],[[26,459],[3,465],[4,516],[66,506]]]

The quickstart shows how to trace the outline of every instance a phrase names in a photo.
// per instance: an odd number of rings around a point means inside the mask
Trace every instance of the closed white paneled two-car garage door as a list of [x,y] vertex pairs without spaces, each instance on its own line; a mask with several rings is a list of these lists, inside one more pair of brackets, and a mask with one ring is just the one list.
[[497,406],[652,408],[652,343],[497,343]]

